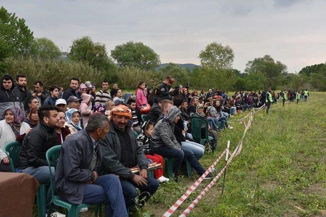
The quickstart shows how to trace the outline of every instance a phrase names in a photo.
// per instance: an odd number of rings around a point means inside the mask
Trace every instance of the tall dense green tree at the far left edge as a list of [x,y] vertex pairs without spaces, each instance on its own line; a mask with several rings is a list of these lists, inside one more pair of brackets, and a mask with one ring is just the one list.
[[0,41],[1,46],[6,47],[8,55],[25,55],[30,53],[34,37],[24,19],[18,19],[15,13],[9,13],[4,7],[1,7]]

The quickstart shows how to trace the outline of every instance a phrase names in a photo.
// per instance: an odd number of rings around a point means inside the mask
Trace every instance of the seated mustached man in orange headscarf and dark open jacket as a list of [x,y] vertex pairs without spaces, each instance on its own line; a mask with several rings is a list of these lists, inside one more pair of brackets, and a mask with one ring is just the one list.
[[[144,203],[157,188],[158,181],[147,176],[148,161],[136,138],[127,125],[131,112],[125,105],[118,105],[110,111],[110,132],[101,143],[104,174],[119,175],[127,209],[133,204],[139,188],[139,201]],[[138,166],[140,174],[132,173],[130,168]],[[142,205],[142,204],[141,204]]]

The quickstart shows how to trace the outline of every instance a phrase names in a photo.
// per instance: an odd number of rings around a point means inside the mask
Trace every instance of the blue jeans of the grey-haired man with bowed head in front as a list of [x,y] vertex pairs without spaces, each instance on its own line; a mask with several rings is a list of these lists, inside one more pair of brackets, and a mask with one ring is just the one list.
[[105,203],[105,216],[128,216],[120,180],[116,175],[102,175],[93,184],[85,184],[83,203]]

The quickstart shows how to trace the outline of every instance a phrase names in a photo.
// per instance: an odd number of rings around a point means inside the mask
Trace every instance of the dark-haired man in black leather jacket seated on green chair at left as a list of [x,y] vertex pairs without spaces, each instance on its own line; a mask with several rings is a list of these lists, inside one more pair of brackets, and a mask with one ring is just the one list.
[[[46,105],[39,108],[39,123],[27,134],[22,142],[18,156],[16,172],[22,172],[34,176],[40,184],[50,183],[49,167],[47,166],[46,151],[58,145],[55,128],[59,124],[59,108],[57,106]],[[52,167],[54,176],[54,168]],[[50,193],[50,191],[49,191]],[[47,196],[47,208],[50,205],[51,195]]]

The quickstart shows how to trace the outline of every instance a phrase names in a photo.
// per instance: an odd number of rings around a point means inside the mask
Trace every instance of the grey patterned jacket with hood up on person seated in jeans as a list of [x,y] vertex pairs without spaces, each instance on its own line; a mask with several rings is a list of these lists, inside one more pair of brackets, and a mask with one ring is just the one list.
[[174,120],[181,115],[178,107],[172,106],[168,114],[160,119],[155,127],[152,135],[153,148],[174,148],[181,150],[181,145],[174,136]]

